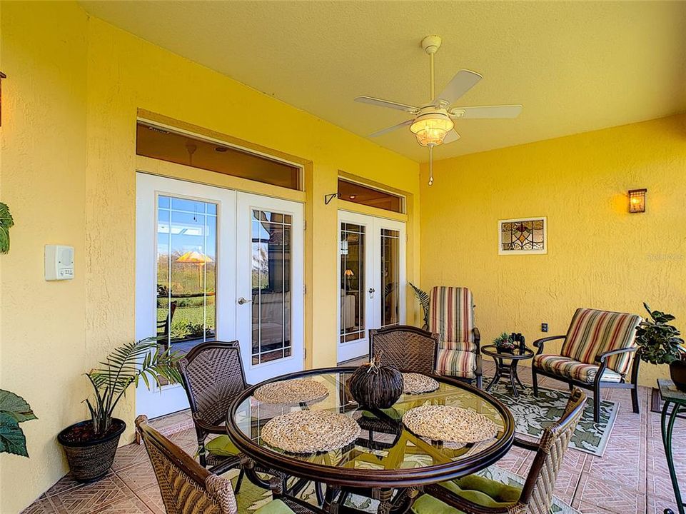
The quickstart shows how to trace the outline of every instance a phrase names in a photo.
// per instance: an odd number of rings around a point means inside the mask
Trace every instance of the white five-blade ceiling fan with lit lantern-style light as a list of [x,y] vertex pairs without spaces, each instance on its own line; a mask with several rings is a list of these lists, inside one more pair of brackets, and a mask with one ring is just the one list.
[[413,118],[381,129],[370,134],[370,137],[381,136],[385,133],[410,126],[417,141],[429,148],[429,186],[433,183],[433,148],[441,144],[452,143],[460,138],[455,131],[453,119],[497,119],[516,118],[522,111],[520,105],[502,106],[453,106],[467,91],[472,89],[483,77],[469,70],[460,70],[453,77],[445,89],[438,95],[434,90],[433,56],[440,48],[440,36],[426,36],[422,39],[422,48],[430,59],[430,101],[421,107],[400,104],[398,102],[374,98],[373,96],[358,96],[355,101],[380,107],[388,107],[398,111],[405,111]]

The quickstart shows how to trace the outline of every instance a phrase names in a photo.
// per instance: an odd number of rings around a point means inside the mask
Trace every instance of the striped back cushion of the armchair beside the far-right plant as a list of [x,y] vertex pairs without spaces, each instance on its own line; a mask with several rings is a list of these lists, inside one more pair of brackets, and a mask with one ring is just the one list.
[[[640,316],[635,314],[597,311],[579,308],[563,343],[562,356],[595,365],[595,357],[610,350],[635,346],[636,327]],[[631,367],[633,353],[620,353],[607,359],[607,368],[625,375]]]

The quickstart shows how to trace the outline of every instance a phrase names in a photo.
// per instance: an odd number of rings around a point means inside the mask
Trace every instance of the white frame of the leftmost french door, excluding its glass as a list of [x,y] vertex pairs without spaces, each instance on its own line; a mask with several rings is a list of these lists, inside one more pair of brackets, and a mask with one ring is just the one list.
[[[217,208],[216,339],[236,339],[236,191],[213,186],[136,173],[136,341],[157,335],[157,213],[158,196],[211,201]],[[230,228],[230,232],[226,228]],[[181,384],[148,390],[141,381],[136,390],[136,415],[150,418],[188,408]]]

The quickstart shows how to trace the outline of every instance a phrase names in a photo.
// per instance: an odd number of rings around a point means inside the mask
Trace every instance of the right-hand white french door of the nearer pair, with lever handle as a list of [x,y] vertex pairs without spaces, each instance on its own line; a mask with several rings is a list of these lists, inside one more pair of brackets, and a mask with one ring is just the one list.
[[303,369],[303,204],[238,193],[236,215],[236,336],[258,383]]

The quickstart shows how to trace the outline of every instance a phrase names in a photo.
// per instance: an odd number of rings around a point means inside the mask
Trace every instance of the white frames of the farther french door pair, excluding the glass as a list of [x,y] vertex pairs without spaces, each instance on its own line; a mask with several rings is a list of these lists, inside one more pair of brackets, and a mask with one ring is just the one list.
[[[403,221],[369,216],[350,211],[338,211],[338,263],[336,265],[337,278],[341,278],[341,223],[355,223],[365,226],[365,326],[363,338],[347,343],[341,343],[341,300],[340,284],[336,288],[338,300],[336,301],[336,350],[337,362],[349,361],[353,358],[366,356],[369,353],[368,331],[370,328],[379,328],[381,324],[380,306],[383,301],[383,288],[381,286],[381,262],[380,240],[383,228],[395,230],[400,233],[399,243],[399,283],[400,294],[398,298],[398,319],[400,324],[406,320],[406,290],[407,290],[407,232],[406,223]],[[373,294],[369,292],[372,288]]]

